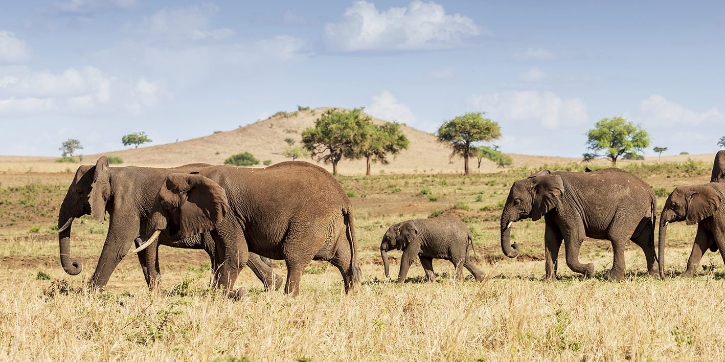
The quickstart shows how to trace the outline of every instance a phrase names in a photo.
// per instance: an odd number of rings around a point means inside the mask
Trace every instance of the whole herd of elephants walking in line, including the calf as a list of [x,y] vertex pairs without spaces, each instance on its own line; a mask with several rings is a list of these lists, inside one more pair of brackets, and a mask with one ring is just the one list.
[[[723,207],[720,207],[723,205]],[[572,271],[592,276],[592,263],[579,262],[584,236],[608,239],[614,251],[606,279],[624,279],[624,246],[629,239],[645,253],[647,273],[664,277],[664,246],[668,223],[697,223],[697,235],[682,276],[692,276],[705,250],[720,250],[725,260],[725,151],[716,155],[711,183],[679,186],[668,197],[659,223],[655,250],[656,199],[650,186],[624,170],[593,172],[542,170],[511,186],[501,215],[501,247],[510,244],[512,224],[544,218],[545,270],[555,280],[564,242]],[[302,161],[267,168],[234,168],[194,163],[177,168],[109,167],[102,156],[96,165],[78,168],[59,210],[58,239],[63,269],[82,270],[70,257],[72,221],[91,215],[109,218],[103,250],[89,281],[103,287],[132,245],[150,289],[159,278],[159,244],[201,249],[212,266],[212,287],[230,297],[239,271],[249,266],[265,289],[278,289],[283,279],[261,257],[284,260],[285,292],[298,295],[302,271],[312,260],[328,260],[339,269],[346,292],[360,284],[352,203],[338,181],[324,168]],[[405,281],[415,256],[428,281],[434,281],[432,259],[450,260],[455,277],[467,268],[477,281],[486,274],[468,258],[471,231],[450,216],[397,223],[386,231],[380,250],[389,277],[387,252],[402,250],[397,282]],[[475,251],[474,251],[475,255]],[[658,258],[659,255],[659,258]]]

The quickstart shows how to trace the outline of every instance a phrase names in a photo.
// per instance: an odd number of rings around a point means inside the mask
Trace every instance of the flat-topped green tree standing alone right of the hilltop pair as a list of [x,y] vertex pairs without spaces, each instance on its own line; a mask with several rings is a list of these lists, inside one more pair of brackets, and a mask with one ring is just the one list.
[[484,118],[485,112],[471,112],[448,120],[438,128],[438,140],[450,143],[453,155],[463,157],[464,174],[468,176],[468,157],[474,142],[492,141],[501,138],[501,127],[498,123]]

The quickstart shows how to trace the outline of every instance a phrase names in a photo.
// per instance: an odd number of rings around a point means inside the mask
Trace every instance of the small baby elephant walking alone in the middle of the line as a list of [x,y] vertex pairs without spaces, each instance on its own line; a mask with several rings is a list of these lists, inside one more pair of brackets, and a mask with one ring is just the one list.
[[[405,281],[410,264],[415,255],[421,258],[423,269],[426,270],[428,281],[436,280],[433,271],[433,258],[445,259],[455,266],[455,279],[460,279],[463,267],[471,271],[476,281],[486,278],[486,273],[468,260],[468,244],[473,249],[473,238],[468,226],[453,216],[440,216],[438,218],[423,218],[403,221],[390,226],[383,236],[380,244],[380,254],[385,264],[385,276],[390,278],[388,251],[397,249],[403,251],[400,260],[400,273],[397,283]],[[476,250],[473,250],[474,257]],[[476,258],[478,260],[478,258]]]

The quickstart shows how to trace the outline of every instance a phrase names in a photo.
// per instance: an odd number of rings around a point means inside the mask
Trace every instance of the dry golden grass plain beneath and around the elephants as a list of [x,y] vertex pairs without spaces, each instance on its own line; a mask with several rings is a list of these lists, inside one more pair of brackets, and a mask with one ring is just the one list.
[[[40,163],[25,172],[0,169],[0,360],[725,361],[720,255],[708,252],[694,278],[678,277],[696,226],[669,227],[665,280],[646,275],[633,243],[625,280],[603,280],[610,244],[587,239],[581,261],[595,263],[593,278],[569,271],[562,248],[559,281],[544,281],[543,219],[513,225],[518,258],[500,249],[499,218],[510,186],[539,168],[476,173],[472,165],[471,176],[418,170],[338,176],[355,207],[360,287],[345,295],[339,271],[312,262],[301,294],[289,297],[265,292],[245,268],[237,286],[249,295],[240,301],[208,288],[206,253],[164,246],[157,291],[149,292],[130,254],[105,289],[86,291],[107,223],[75,221],[72,255],[83,272],[67,275],[59,265],[57,213],[77,165],[66,170],[72,172],[48,172]],[[689,160],[626,169],[653,187],[661,210],[676,186],[708,182],[711,165]],[[434,215],[468,224],[488,279],[477,282],[464,270],[465,279],[455,281],[445,260],[434,260],[434,283],[426,282],[418,260],[405,284],[384,277],[379,246],[388,226]],[[397,276],[400,254],[389,255]],[[273,263],[286,275],[281,261]]]

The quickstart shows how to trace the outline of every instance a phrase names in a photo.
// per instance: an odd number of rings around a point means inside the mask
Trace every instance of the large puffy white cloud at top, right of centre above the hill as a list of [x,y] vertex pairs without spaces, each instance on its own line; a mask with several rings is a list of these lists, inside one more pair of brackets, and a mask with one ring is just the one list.
[[331,49],[342,52],[452,49],[481,34],[470,17],[446,15],[433,1],[415,0],[382,12],[371,2],[355,1],[342,17],[342,22],[326,24],[323,34]]

